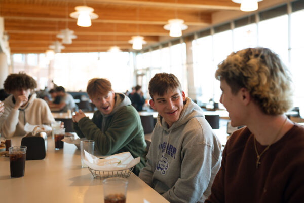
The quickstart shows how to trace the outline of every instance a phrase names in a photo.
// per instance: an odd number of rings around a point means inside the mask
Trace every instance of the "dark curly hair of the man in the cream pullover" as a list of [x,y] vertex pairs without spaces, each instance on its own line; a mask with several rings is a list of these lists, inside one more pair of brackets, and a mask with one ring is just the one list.
[[19,72],[10,74],[4,81],[4,90],[7,93],[12,93],[14,90],[21,89],[35,89],[37,87],[36,81],[29,75]]

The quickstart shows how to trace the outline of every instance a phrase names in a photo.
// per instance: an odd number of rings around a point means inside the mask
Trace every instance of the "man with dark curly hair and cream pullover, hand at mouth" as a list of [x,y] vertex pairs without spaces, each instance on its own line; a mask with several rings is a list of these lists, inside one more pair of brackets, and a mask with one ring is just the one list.
[[36,81],[25,73],[11,74],[5,80],[4,89],[11,94],[0,116],[0,133],[5,138],[24,136],[26,123],[51,125],[55,121],[46,101],[33,93],[36,87]]

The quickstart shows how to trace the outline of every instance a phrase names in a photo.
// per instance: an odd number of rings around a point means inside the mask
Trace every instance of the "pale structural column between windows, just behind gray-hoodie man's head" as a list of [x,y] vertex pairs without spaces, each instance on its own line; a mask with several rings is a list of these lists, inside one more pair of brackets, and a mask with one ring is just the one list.
[[193,73],[193,53],[192,41],[186,42],[187,53],[187,80],[188,80],[188,96],[192,100],[196,100],[196,88],[194,86],[194,73]]

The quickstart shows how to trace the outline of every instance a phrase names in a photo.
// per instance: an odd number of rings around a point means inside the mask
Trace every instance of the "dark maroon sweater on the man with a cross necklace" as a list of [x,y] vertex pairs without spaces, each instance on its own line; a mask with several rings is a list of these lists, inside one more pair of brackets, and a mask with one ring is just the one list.
[[[254,136],[234,132],[223,151],[206,202],[304,202],[304,127],[295,124],[262,155],[258,168]],[[266,146],[258,142],[259,154]]]

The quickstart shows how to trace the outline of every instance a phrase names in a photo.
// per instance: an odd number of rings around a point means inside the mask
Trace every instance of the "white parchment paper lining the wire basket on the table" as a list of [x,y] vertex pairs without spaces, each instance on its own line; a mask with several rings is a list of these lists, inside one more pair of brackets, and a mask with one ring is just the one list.
[[99,159],[85,151],[84,162],[88,167],[99,171],[118,171],[131,168],[140,162],[140,157],[133,158],[130,152],[123,152]]

